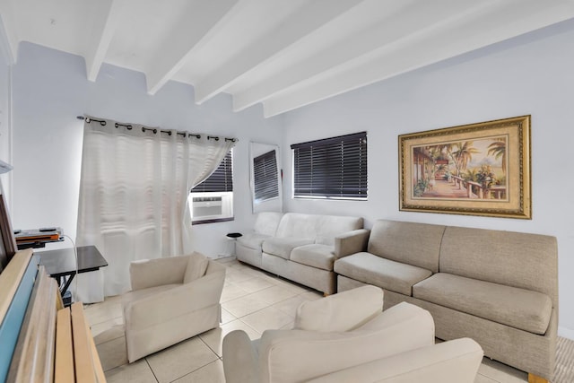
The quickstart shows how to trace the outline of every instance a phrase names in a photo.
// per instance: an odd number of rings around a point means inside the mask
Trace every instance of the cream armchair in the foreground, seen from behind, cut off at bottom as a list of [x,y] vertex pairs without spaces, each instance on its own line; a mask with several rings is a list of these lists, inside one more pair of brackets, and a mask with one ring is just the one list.
[[403,302],[381,312],[382,303],[381,289],[363,286],[303,303],[292,330],[267,330],[254,342],[230,332],[226,382],[474,382],[480,345],[435,345],[428,311]]

